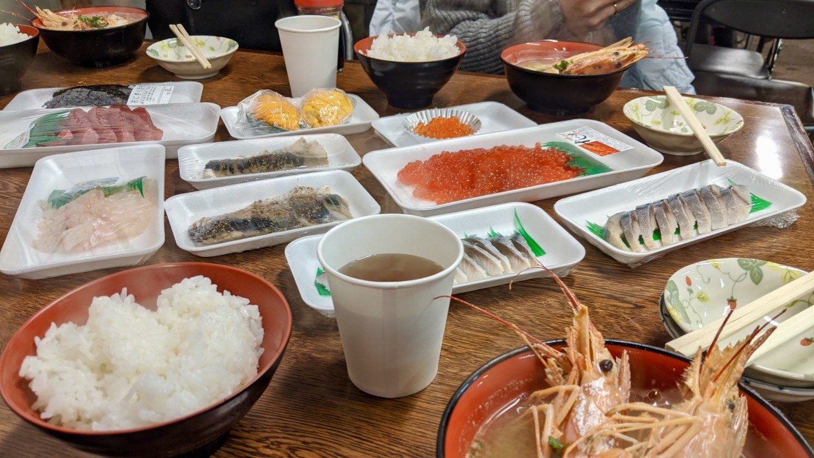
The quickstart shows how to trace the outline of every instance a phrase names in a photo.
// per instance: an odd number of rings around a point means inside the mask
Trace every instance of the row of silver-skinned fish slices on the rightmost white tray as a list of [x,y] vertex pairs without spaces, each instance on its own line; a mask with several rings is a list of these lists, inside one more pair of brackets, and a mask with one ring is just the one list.
[[[751,205],[751,193],[744,185],[702,186],[610,216],[602,228],[602,238],[620,250],[638,253],[642,251],[641,237],[646,249],[654,250],[692,238],[694,230],[709,233],[746,220]],[[660,243],[655,229],[659,229]]]

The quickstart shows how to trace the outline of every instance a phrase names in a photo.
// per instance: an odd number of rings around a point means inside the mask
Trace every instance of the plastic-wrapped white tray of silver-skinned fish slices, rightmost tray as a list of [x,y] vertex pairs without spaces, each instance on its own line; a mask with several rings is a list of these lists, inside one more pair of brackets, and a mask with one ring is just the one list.
[[742,164],[706,160],[564,198],[554,209],[594,246],[637,267],[744,226],[786,228],[805,202],[799,191]]

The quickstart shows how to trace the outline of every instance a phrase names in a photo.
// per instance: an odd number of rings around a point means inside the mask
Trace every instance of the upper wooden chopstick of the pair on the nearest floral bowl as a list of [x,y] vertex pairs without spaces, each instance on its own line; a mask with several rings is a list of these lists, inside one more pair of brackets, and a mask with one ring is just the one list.
[[[729,338],[746,327],[757,325],[760,321],[764,320],[765,316],[772,316],[773,312],[777,309],[782,308],[787,303],[790,303],[811,290],[814,290],[814,272],[807,273],[803,275],[803,277],[799,277],[797,280],[791,281],[777,288],[777,290],[773,290],[755,299],[751,303],[737,308],[732,316],[729,317],[729,322],[726,327],[721,330],[719,340]],[[695,355],[698,348],[702,350],[709,348],[712,339],[715,338],[715,334],[723,323],[724,318],[721,317],[709,325],[703,326],[701,329],[696,329],[689,334],[667,342],[664,347],[667,348],[667,350],[681,353],[681,355]]]

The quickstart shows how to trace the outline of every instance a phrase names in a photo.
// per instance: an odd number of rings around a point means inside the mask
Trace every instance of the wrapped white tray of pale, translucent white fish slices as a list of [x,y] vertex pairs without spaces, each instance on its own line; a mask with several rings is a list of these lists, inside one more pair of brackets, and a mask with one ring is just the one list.
[[0,272],[44,278],[142,264],[164,244],[164,159],[164,146],[139,145],[37,162]]

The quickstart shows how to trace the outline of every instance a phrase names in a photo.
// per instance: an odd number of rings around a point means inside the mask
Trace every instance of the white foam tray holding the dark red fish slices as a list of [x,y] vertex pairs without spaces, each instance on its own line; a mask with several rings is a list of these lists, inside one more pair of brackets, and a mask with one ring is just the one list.
[[[217,131],[221,107],[214,103],[173,103],[143,107],[150,114],[155,127],[164,131],[161,140],[150,142],[96,143],[94,145],[34,146],[31,148],[2,149],[9,142],[27,132],[33,121],[57,111],[52,110],[0,111],[0,168],[30,167],[37,159],[59,153],[98,150],[113,146],[147,145],[157,143],[167,150],[167,159],[178,157],[178,148],[184,145],[212,142]],[[83,107],[85,111],[90,107]]]

